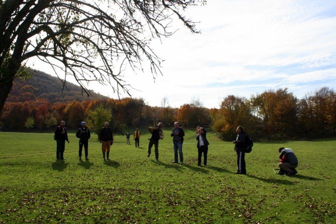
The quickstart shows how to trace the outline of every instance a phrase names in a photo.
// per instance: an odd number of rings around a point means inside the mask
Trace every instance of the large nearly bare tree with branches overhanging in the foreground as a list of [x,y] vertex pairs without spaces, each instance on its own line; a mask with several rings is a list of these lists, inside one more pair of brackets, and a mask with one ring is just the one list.
[[149,47],[155,37],[171,36],[177,18],[191,32],[195,24],[182,13],[206,0],[4,0],[0,1],[0,111],[13,80],[27,75],[30,58],[49,64],[59,75],[72,75],[89,95],[89,81],[110,83],[112,91],[129,93],[122,80],[125,66],[133,70],[148,62],[160,73],[161,59]]

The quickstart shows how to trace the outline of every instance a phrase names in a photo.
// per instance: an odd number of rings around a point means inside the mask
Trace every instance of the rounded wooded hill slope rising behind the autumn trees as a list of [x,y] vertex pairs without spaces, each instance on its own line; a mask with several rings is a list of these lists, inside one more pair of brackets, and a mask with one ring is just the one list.
[[67,83],[67,88],[64,88],[62,93],[63,83],[57,77],[37,70],[32,70],[31,74],[32,77],[27,80],[19,78],[14,80],[7,102],[25,102],[45,98],[54,103],[108,98],[93,91],[89,97],[85,93],[82,95],[82,88],[70,82]]

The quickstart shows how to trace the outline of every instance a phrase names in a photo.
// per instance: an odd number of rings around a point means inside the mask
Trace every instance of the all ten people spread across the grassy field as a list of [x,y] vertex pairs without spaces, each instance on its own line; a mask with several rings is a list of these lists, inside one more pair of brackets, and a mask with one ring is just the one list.
[[[164,138],[162,123],[156,124],[156,118],[153,118],[154,125],[153,127],[149,127],[148,131],[151,133],[151,137],[148,139],[148,155],[151,154],[151,149],[154,146],[155,159],[158,161],[159,153],[158,153],[158,142]],[[237,172],[236,174],[246,174],[246,163],[245,163],[245,152],[246,152],[246,141],[248,139],[247,134],[244,132],[243,127],[238,126],[236,129],[237,137],[236,140],[232,141],[235,144],[235,152],[237,154]],[[197,148],[198,148],[198,166],[201,166],[202,162],[202,154],[204,157],[203,165],[207,166],[208,159],[208,146],[209,142],[207,140],[207,131],[197,126],[196,131],[196,140],[197,140]],[[135,147],[139,147],[139,139],[141,133],[138,129],[134,132],[133,139],[135,140]],[[185,132],[183,128],[180,127],[179,122],[174,123],[174,129],[171,132],[171,137],[173,137],[173,148],[174,148],[174,161],[173,163],[179,162],[184,163],[182,146],[184,142]],[[76,137],[79,138],[79,160],[82,160],[82,149],[84,146],[85,150],[85,160],[88,160],[88,140],[90,139],[90,130],[86,127],[85,122],[81,123],[81,127],[78,129],[76,133]],[[129,131],[126,133],[127,144],[129,143],[130,133]],[[64,160],[64,149],[65,149],[65,141],[69,143],[67,130],[65,128],[65,122],[61,121],[60,126],[56,128],[54,139],[57,143],[56,149],[56,159]],[[109,127],[109,123],[105,122],[105,126],[100,130],[98,135],[98,139],[101,143],[101,149],[104,160],[109,160],[110,146],[113,144],[113,133],[112,129]],[[280,171],[278,174],[280,175],[293,175],[296,174],[296,167],[298,165],[298,160],[293,153],[293,151],[289,148],[279,148],[280,153],[280,162],[279,168]]]

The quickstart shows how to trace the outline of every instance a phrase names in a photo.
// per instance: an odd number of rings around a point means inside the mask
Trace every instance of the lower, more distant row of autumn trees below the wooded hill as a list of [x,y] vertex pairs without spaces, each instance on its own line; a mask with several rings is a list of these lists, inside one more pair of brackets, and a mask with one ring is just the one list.
[[[166,100],[166,99],[165,99]],[[54,129],[61,120],[68,128],[77,129],[82,121],[94,132],[108,121],[115,133],[124,134],[129,127],[152,125],[156,115],[166,127],[173,127],[175,121],[185,126],[210,124],[209,113],[199,100],[171,107],[167,101],[161,106],[149,106],[142,98],[94,99],[51,103],[48,99],[25,102],[7,102],[2,111],[0,126],[3,131],[45,131]]]

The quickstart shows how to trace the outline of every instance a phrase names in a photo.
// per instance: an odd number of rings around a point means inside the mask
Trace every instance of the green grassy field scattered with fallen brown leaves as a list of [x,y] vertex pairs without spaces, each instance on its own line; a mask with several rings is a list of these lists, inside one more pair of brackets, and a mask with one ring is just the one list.
[[[140,148],[115,136],[111,161],[92,136],[80,162],[73,133],[56,161],[53,134],[0,132],[0,223],[336,223],[336,139],[255,143],[248,174],[236,175],[233,144],[213,133],[207,167],[197,166],[194,131],[185,164],[172,163],[169,129],[159,161],[147,158],[147,133]],[[297,175],[274,173],[281,146],[299,158]]]

